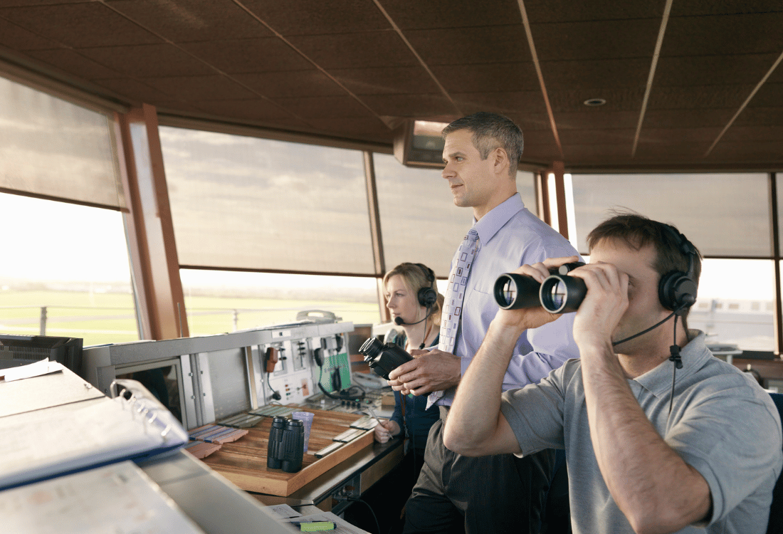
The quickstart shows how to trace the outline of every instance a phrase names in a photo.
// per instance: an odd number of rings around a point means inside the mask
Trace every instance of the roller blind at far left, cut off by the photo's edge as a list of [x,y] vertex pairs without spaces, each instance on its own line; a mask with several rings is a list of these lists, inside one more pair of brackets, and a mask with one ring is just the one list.
[[0,78],[0,187],[124,207],[107,115]]

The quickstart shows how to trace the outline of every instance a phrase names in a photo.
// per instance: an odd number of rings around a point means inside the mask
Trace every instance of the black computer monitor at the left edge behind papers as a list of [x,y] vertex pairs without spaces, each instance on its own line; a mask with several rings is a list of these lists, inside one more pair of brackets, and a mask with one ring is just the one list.
[[18,336],[0,334],[0,368],[27,365],[49,358],[62,363],[79,376],[81,370],[81,337]]

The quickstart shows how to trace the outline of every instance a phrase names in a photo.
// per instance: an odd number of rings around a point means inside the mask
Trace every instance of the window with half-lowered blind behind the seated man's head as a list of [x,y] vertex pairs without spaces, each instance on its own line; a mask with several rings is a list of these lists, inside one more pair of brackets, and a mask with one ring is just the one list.
[[677,226],[707,256],[689,327],[704,330],[709,343],[772,351],[768,180],[762,173],[573,175],[575,241],[586,252],[587,234],[612,215],[612,208]]

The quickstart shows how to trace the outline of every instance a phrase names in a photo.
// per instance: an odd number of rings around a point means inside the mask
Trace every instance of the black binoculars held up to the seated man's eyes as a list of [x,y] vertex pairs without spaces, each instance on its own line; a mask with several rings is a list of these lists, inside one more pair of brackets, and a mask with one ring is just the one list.
[[550,269],[550,276],[542,283],[530,276],[503,273],[495,280],[495,301],[503,309],[543,306],[550,313],[576,312],[587,287],[581,278],[568,276],[568,272],[582,265],[582,262],[572,262]]

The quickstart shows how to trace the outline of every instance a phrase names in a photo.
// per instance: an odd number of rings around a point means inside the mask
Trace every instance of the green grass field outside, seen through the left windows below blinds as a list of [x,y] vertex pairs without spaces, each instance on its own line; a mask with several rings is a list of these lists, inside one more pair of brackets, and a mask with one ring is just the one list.
[[[82,337],[85,346],[139,339],[131,294],[75,291],[0,291],[0,333],[38,334],[42,306],[47,335]],[[380,320],[377,305],[363,302],[188,297],[185,306],[192,336],[293,322],[297,312],[310,309],[355,324]]]

